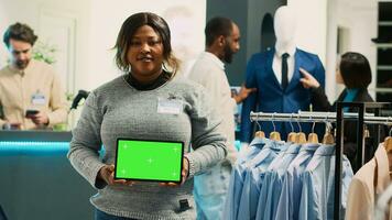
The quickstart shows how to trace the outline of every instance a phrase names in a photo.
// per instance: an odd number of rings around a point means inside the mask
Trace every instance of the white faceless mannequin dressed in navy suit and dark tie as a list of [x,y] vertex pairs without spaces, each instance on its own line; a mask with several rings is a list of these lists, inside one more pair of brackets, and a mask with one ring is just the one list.
[[[274,15],[275,47],[252,55],[247,65],[246,87],[257,88],[258,91],[249,96],[242,106],[241,142],[249,143],[253,136],[253,124],[249,119],[251,111],[292,113],[298,110],[308,111],[311,92],[305,89],[300,79],[300,68],[311,73],[325,86],[325,70],[318,56],[296,47],[294,42],[295,18],[288,7],[281,7]],[[282,55],[287,57],[287,80],[282,85]],[[288,122],[275,122],[276,131],[282,139],[291,132]],[[273,131],[271,122],[260,122],[268,135]],[[312,124],[302,123],[305,133],[311,131]],[[297,130],[296,130],[297,131]]]

